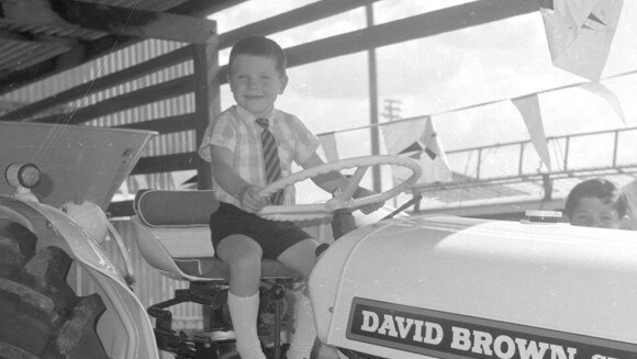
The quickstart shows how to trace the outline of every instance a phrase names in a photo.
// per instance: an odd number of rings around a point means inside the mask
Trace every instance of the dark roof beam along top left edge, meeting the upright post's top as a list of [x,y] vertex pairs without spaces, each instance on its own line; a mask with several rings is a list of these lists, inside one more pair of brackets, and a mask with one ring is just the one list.
[[0,0],[0,19],[30,26],[185,43],[205,43],[216,31],[216,23],[206,19],[90,2]]

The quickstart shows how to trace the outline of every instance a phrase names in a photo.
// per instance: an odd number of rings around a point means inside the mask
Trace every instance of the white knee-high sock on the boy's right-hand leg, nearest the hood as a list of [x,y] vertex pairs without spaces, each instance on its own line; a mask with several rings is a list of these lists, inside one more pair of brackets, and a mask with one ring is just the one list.
[[288,359],[310,359],[312,347],[316,340],[314,313],[312,303],[306,295],[300,295],[297,308],[297,329],[288,349]]

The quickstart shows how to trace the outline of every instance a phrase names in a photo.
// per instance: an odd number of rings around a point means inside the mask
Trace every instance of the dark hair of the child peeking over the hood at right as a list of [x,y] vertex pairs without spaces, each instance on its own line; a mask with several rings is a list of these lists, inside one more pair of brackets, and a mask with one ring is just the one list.
[[575,207],[583,198],[596,198],[603,203],[612,205],[617,211],[619,218],[626,214],[626,198],[608,180],[595,178],[585,180],[573,187],[567,197],[565,205],[565,212],[569,218],[572,217]]

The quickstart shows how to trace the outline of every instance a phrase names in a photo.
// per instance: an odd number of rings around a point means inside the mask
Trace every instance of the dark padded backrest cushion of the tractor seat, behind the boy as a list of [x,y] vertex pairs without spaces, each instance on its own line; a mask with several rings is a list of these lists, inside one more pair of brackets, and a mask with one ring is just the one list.
[[134,203],[139,220],[150,227],[208,226],[217,207],[212,190],[144,190]]

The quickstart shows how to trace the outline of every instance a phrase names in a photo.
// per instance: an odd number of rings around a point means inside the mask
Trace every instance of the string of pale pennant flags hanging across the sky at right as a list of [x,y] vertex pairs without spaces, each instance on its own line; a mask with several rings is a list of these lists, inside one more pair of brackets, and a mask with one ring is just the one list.
[[[591,81],[559,89],[577,86],[603,98],[626,124],[617,96],[600,83],[619,21],[623,0],[540,0],[539,2],[552,64]],[[538,94],[556,90],[558,89],[470,105],[444,113],[511,101],[519,112],[540,160],[550,170],[551,161]],[[435,132],[432,115],[379,125],[382,126],[388,154],[409,156],[420,161],[423,175],[418,183],[451,180],[449,164],[440,138]],[[320,139],[327,160],[337,160],[335,133],[320,135]],[[409,170],[393,169],[394,181],[400,181],[409,175]]]

